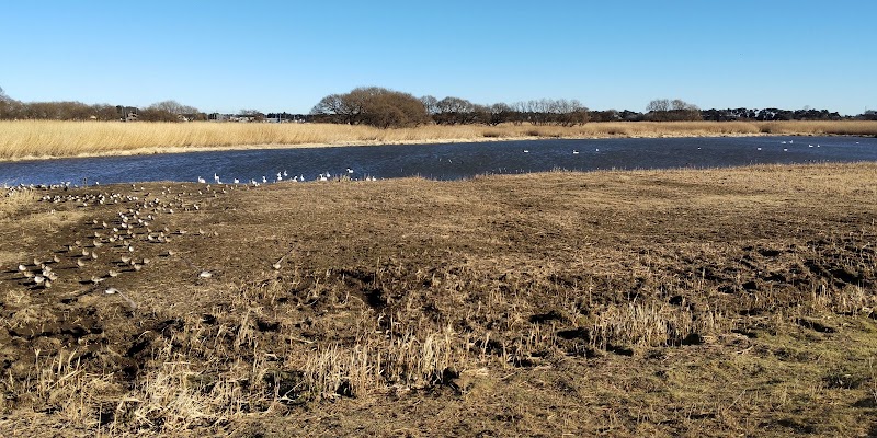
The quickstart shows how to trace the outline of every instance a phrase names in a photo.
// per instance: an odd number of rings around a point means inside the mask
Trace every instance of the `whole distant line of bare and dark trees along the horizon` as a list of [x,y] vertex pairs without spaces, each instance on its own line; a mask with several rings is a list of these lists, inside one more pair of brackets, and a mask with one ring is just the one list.
[[[589,122],[681,122],[681,120],[877,120],[877,113],[866,111],[857,116],[842,116],[828,110],[726,108],[701,110],[680,99],[656,99],[646,112],[629,110],[594,111],[578,100],[539,99],[514,103],[482,105],[466,99],[426,95],[415,97],[379,87],[356,88],[348,93],[321,99],[309,114],[269,113],[241,110],[238,119],[262,122],[322,122],[349,125],[369,125],[379,128],[420,125],[499,125],[532,124],[576,126]],[[127,120],[127,122],[194,122],[218,120],[217,114],[206,114],[194,106],[176,101],[163,101],[145,108],[81,102],[19,102],[0,88],[0,119],[50,120]]]

